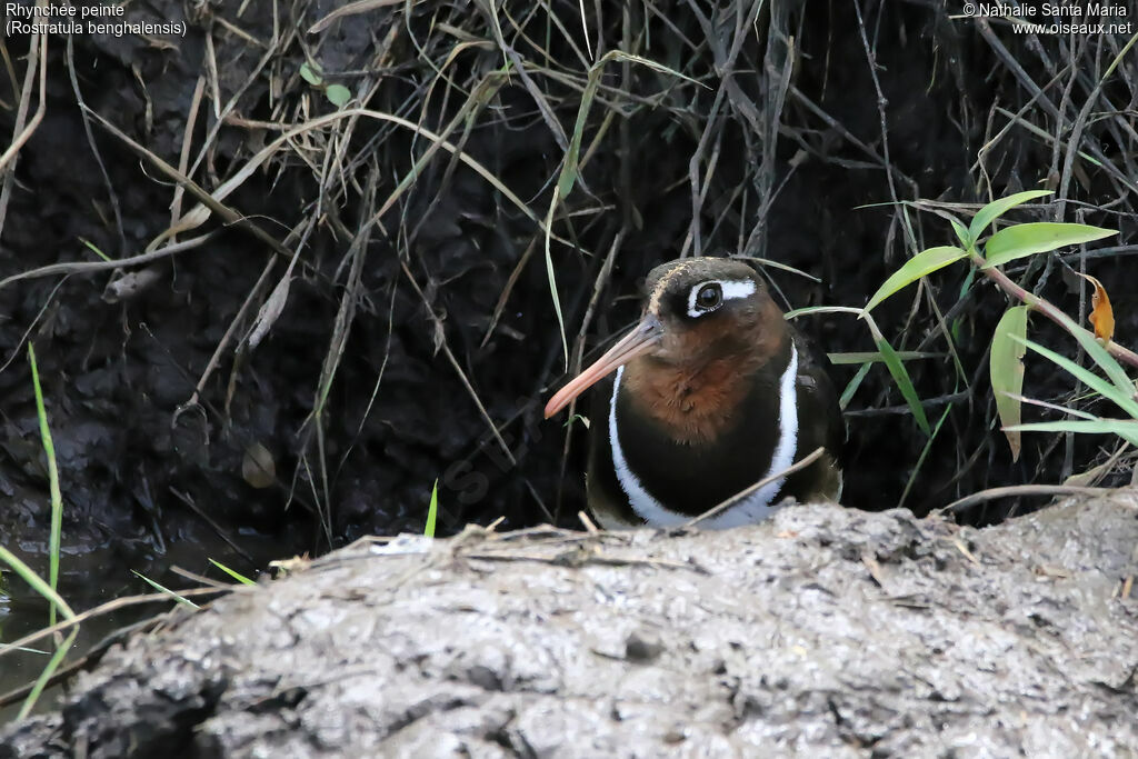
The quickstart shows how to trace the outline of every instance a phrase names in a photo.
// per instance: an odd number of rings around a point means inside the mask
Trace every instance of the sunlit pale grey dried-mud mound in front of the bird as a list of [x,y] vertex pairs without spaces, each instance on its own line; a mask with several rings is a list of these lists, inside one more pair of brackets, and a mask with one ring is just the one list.
[[135,637],[0,757],[1133,756],[1136,546],[1132,489],[402,538]]

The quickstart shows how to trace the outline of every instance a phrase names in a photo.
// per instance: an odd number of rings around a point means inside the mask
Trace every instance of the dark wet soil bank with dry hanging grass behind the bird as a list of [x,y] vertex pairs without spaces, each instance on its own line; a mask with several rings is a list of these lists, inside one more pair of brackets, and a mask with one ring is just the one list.
[[[638,281],[661,261],[765,258],[820,280],[766,266],[787,307],[859,306],[914,251],[953,241],[943,218],[896,201],[973,204],[957,208],[967,215],[1040,187],[1058,200],[1014,218],[1121,236],[1106,254],[1061,251],[1065,262],[1039,257],[1012,273],[1075,315],[1088,295],[1064,263],[1085,266],[1111,292],[1118,339],[1133,345],[1130,33],[1017,34],[1009,22],[957,17],[956,2],[777,5],[422,2],[310,32],[339,3],[151,0],[131,3],[126,19],[183,23],[184,36],[48,36],[43,118],[3,176],[3,277],[98,261],[82,240],[135,256],[172,226],[176,182],[91,114],[174,166],[184,152],[185,173],[211,192],[282,133],[335,114],[330,84],[347,88],[348,108],[404,121],[356,114],[296,130],[223,197],[244,222],[214,213],[176,237],[212,232],[204,245],[121,272],[0,288],[0,543],[43,566],[48,485],[28,340],[66,503],[63,592],[79,607],[145,592],[127,568],[157,566],[155,578],[171,581],[163,567],[205,572],[215,558],[251,572],[365,534],[420,531],[436,479],[444,533],[498,518],[576,523],[582,440],[541,420],[564,364],[536,220],[588,68],[618,49],[687,79],[604,65],[580,181],[552,223],[572,365],[635,319]],[[25,80],[32,40],[3,42],[0,129],[15,133],[35,83]],[[303,66],[321,73],[305,79]],[[27,118],[40,105],[32,94]],[[428,131],[494,182],[434,149]],[[1066,168],[1072,149],[1091,159]],[[185,192],[173,217],[196,203]],[[296,254],[288,273],[265,234]],[[105,294],[140,271],[147,286]],[[904,401],[875,366],[849,406],[849,505],[890,508],[905,494],[924,513],[990,486],[1062,481],[1106,457],[1108,440],[1038,435],[1012,463],[986,363],[1007,303],[965,274],[947,270],[877,312],[894,347],[945,354],[909,370],[934,399],[931,420],[949,411],[922,457],[926,437],[894,413]],[[281,305],[270,295],[282,280],[287,300],[253,348],[258,311]],[[951,324],[964,380],[933,305]],[[799,327],[831,352],[873,347],[850,316]],[[1054,337],[1038,323],[1032,335]],[[1073,354],[1071,341],[1053,344]],[[838,366],[839,386],[856,369]],[[1064,402],[1073,391],[1054,368],[1029,365],[1028,395]],[[275,478],[250,471],[255,461]],[[1030,505],[966,518],[987,523]],[[34,601],[11,592],[17,608]]]

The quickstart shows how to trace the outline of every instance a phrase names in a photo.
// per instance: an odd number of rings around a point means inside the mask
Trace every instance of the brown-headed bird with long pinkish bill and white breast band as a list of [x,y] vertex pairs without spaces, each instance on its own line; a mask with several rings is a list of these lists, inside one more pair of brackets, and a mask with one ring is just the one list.
[[[846,427],[828,360],[784,319],[759,274],[729,257],[660,264],[640,322],[545,406],[588,388],[586,495],[607,529],[717,529],[790,500],[838,502]],[[805,469],[754,488],[822,447]],[[750,493],[742,494],[750,488]]]

